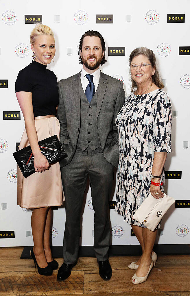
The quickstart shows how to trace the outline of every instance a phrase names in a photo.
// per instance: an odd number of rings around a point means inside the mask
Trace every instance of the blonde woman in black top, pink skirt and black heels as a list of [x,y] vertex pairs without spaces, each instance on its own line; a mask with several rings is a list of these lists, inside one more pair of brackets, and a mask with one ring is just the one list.
[[55,55],[54,33],[46,25],[37,24],[30,35],[33,61],[19,71],[15,91],[25,120],[19,149],[31,146],[35,173],[24,178],[17,169],[17,204],[33,209],[31,227],[34,247],[30,255],[38,273],[51,275],[58,263],[50,249],[52,206],[62,205],[62,183],[59,163],[49,165],[38,141],[60,135],[56,118],[59,103],[56,75],[46,67]]

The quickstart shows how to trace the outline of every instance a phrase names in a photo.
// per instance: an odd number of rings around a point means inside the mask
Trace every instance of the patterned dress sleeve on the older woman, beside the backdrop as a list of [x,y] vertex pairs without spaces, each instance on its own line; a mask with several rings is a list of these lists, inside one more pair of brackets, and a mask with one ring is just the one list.
[[153,112],[154,152],[171,152],[172,107],[165,92],[158,96]]

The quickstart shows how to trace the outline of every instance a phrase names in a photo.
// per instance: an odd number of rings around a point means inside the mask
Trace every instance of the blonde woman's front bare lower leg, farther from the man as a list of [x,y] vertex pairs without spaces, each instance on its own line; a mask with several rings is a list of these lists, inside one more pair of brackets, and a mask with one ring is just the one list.
[[34,241],[33,252],[36,261],[41,268],[47,266],[47,260],[44,253],[44,230],[46,217],[49,207],[34,209],[31,216],[32,235]]

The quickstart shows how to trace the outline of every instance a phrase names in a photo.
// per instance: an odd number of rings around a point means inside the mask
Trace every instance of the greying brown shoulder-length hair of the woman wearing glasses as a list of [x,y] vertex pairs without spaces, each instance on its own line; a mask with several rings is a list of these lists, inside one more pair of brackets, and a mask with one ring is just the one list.
[[[155,72],[154,72],[154,75],[152,75],[152,82],[157,86],[159,87],[160,89],[162,89],[164,87],[163,83],[161,82],[161,78],[160,78],[160,74],[157,70],[157,67],[156,67],[156,57],[155,57],[155,54],[154,52],[151,50],[151,49],[148,49],[146,47],[140,47],[140,48],[136,48],[134,49],[130,56],[129,56],[129,67],[130,67],[130,72],[131,72],[131,62],[132,62],[132,59],[134,57],[137,57],[139,56],[140,54],[143,54],[145,55],[149,61],[150,61],[150,64],[152,65],[152,67],[155,67]],[[132,79],[131,77],[131,92],[134,91],[134,88],[137,87],[136,85],[136,82]]]

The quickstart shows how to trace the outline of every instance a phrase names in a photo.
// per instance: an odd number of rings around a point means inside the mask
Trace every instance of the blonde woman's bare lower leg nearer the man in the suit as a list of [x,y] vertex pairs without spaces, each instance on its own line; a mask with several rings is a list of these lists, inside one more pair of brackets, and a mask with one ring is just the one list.
[[49,207],[47,218],[46,218],[45,231],[44,231],[44,252],[45,252],[47,262],[53,261],[53,257],[50,249],[51,222],[52,222],[52,209],[51,207]]

